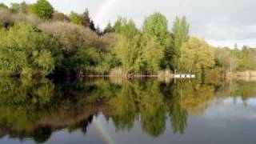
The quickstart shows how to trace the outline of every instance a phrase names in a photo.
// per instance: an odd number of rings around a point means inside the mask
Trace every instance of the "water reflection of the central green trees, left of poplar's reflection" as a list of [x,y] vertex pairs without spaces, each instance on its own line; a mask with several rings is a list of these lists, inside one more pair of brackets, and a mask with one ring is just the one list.
[[114,106],[112,118],[117,130],[130,130],[139,115],[147,134],[158,136],[166,129],[166,107],[158,82],[123,82],[110,105]]

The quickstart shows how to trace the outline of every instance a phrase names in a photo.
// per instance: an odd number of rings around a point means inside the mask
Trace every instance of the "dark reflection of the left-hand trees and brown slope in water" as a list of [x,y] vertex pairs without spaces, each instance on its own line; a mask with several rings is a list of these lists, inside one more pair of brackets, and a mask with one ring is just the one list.
[[[82,84],[83,83],[83,84]],[[68,128],[82,130],[92,122],[94,114],[106,111],[107,106],[90,102],[95,84],[69,83],[54,86],[50,80],[1,79],[0,131],[2,137],[32,138],[45,142],[52,131]],[[78,84],[78,85],[77,85]],[[97,89],[98,90],[98,89]]]

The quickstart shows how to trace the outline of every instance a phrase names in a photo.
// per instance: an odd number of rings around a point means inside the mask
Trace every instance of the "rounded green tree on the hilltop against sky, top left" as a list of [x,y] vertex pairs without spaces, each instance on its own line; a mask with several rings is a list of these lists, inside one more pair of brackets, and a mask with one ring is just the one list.
[[38,0],[30,7],[30,13],[36,14],[39,18],[50,19],[54,13],[54,7],[46,0]]

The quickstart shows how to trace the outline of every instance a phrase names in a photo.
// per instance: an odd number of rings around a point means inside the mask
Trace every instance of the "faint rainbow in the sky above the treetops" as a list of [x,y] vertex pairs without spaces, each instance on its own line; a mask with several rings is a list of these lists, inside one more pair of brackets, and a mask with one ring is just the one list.
[[97,24],[100,23],[104,15],[107,14],[108,10],[110,10],[116,2],[118,2],[118,0],[104,0],[102,5],[98,7],[98,11],[93,14],[94,22]]

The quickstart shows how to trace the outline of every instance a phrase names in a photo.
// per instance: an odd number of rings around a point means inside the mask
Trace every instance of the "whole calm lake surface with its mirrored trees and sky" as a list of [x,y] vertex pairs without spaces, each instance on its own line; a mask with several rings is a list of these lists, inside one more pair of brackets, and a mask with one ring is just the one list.
[[256,142],[256,82],[0,80],[0,143]]

